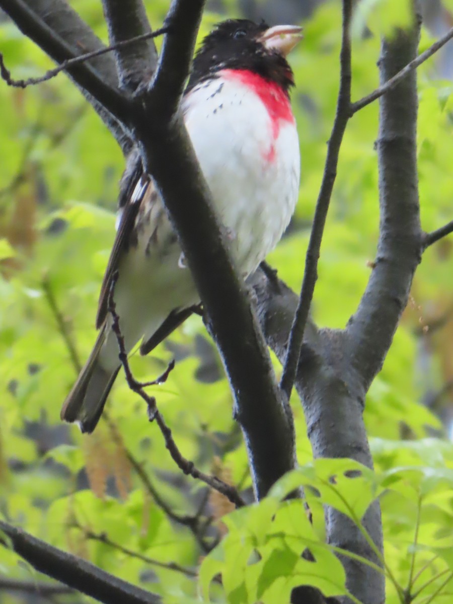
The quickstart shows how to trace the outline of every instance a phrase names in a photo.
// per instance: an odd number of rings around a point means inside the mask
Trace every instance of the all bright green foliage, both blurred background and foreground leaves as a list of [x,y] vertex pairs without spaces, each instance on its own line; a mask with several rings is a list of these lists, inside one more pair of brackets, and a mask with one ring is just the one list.
[[[167,5],[167,0],[147,2],[154,25]],[[379,34],[401,27],[407,16],[403,1],[392,2],[397,10],[391,11],[384,0],[361,5],[353,38],[354,99],[378,85]],[[80,0],[74,7],[106,39],[100,5]],[[339,2],[322,5],[304,24],[304,42],[291,57],[302,157],[300,200],[294,228],[269,262],[296,291],[335,115],[340,18]],[[218,20],[207,14],[202,34]],[[365,24],[371,36],[361,35]],[[422,50],[431,41],[424,32]],[[51,66],[8,23],[0,27],[0,50],[16,78],[39,76]],[[452,86],[432,78],[432,63],[419,69],[419,184],[427,231],[451,220],[453,164]],[[98,291],[114,237],[121,153],[62,74],[25,91],[0,82],[0,104],[0,517],[143,583],[167,603],[211,597],[235,604],[280,604],[301,583],[316,585],[327,595],[346,593],[344,571],[324,542],[322,506],[336,507],[360,525],[368,504],[379,496],[388,603],[400,602],[408,586],[411,594],[419,591],[416,604],[451,601],[453,448],[442,438],[439,417],[422,404],[453,378],[451,243],[445,240],[424,255],[410,307],[367,396],[365,422],[376,473],[348,460],[312,463],[294,396],[302,467],[260,504],[221,521],[228,505],[211,501],[213,525],[225,536],[201,564],[198,592],[185,570],[196,571],[204,552],[178,518],[196,515],[204,491],[181,478],[124,377],[118,377],[109,401],[109,422],[103,421],[92,437],[59,420],[77,364],[85,361],[95,338]],[[379,225],[373,149],[377,118],[376,103],[356,114],[342,145],[313,301],[320,326],[345,325],[370,275]],[[437,323],[442,329],[426,330]],[[171,342],[171,349],[161,345],[149,358],[133,355],[135,376],[152,379],[176,351],[179,360],[169,381],[149,390],[179,448],[202,470],[215,471],[243,489],[251,486],[245,447],[231,418],[228,384],[219,377],[221,364],[201,320],[191,318]],[[280,372],[277,361],[275,370]],[[446,400],[448,392],[437,396],[436,412]],[[360,474],[345,474],[351,469]],[[333,475],[335,481],[330,480]],[[300,501],[284,501],[300,485],[313,524]],[[156,503],[153,490],[176,521]],[[209,546],[214,533],[207,538]],[[313,562],[301,557],[307,547]],[[172,562],[182,570],[171,567]],[[220,572],[223,588],[213,580]],[[5,547],[0,548],[0,573],[35,578]],[[12,597],[4,601],[18,602]]]

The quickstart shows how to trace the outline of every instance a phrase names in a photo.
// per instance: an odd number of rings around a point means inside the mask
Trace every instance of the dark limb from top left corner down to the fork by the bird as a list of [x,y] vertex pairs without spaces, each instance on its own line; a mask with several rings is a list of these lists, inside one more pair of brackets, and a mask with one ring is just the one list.
[[[13,19],[22,33],[36,42],[56,62],[62,63],[79,54],[63,37],[52,30],[24,0],[0,0],[0,8]],[[117,139],[121,140],[121,136],[126,137],[124,132],[123,135],[118,132],[121,126],[118,123],[112,123],[114,118],[114,122],[119,120],[120,124],[124,124],[128,121],[130,114],[129,101],[118,88],[105,82],[88,63],[73,65],[68,68],[68,73],[83,91],[91,95],[92,98],[88,98],[88,100],[97,109],[109,129],[112,132],[117,130]]]

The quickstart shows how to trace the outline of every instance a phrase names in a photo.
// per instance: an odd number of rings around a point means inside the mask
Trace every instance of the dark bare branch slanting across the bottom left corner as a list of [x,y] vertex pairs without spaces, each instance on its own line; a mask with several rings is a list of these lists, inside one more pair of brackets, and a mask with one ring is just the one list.
[[[7,522],[0,521],[0,531],[10,540],[13,550],[40,573],[81,591],[105,604],[159,604],[159,596],[117,579],[82,558],[61,551],[36,539]],[[1,539],[0,543],[7,545]]]

